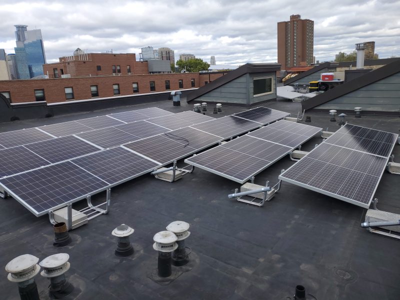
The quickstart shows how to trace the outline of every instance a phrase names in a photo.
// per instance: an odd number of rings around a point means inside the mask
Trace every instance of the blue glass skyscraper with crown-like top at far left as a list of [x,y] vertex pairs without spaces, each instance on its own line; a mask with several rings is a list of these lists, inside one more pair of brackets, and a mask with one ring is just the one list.
[[43,74],[43,63],[46,63],[43,39],[40,29],[27,30],[27,25],[16,27],[15,62],[18,68],[18,79],[28,79]]

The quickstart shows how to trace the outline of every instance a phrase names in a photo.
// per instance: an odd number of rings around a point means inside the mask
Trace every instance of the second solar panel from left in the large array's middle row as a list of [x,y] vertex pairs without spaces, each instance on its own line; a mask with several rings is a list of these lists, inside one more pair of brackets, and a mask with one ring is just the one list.
[[27,144],[25,147],[51,163],[71,159],[99,150],[98,147],[73,135],[39,141]]

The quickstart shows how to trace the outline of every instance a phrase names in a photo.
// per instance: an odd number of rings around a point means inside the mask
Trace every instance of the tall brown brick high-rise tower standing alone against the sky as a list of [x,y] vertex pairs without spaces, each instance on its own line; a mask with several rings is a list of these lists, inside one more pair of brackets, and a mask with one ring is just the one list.
[[314,53],[314,21],[290,15],[289,21],[278,22],[278,63],[282,69],[309,65]]

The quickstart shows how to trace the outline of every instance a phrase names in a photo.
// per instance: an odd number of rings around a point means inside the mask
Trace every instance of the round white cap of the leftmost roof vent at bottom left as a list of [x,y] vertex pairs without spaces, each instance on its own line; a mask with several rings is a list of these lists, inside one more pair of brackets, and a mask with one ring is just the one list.
[[15,257],[5,266],[8,272],[8,280],[12,282],[23,282],[36,276],[40,271],[37,264],[39,258],[30,254],[23,254]]

